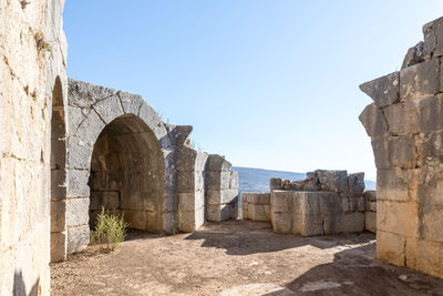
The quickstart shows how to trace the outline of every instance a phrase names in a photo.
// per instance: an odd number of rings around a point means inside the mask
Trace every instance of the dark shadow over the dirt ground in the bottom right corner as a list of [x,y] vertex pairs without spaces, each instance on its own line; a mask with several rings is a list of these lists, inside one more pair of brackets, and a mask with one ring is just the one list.
[[375,262],[370,255],[374,244],[337,253],[332,263],[311,268],[286,287],[293,295],[316,296],[443,295],[442,279]]

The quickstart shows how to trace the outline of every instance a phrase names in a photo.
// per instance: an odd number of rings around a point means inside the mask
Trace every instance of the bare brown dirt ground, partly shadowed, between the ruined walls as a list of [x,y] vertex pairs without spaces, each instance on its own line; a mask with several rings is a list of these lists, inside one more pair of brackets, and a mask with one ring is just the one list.
[[209,224],[174,236],[141,232],[51,265],[52,295],[443,295],[443,279],[373,259],[370,233],[298,237],[265,223]]

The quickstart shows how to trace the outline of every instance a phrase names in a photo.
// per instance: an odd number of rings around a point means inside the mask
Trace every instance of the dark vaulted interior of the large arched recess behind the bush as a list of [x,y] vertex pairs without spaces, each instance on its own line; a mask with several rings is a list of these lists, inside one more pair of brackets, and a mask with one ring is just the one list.
[[103,206],[123,214],[130,228],[163,231],[163,152],[136,115],[119,116],[102,130],[93,147],[89,186],[91,227]]

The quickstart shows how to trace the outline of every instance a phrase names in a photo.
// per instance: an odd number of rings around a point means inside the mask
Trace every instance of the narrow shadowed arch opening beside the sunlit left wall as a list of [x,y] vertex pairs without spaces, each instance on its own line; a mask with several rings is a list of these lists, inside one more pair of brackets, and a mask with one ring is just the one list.
[[66,126],[60,76],[52,90],[51,116],[51,261],[65,258]]

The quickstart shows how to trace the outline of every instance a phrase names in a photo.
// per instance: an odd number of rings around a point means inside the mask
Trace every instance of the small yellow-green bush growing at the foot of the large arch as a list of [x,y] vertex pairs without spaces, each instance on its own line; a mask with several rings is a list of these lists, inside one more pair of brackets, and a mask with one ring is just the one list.
[[113,251],[126,236],[128,224],[123,221],[123,215],[110,214],[102,206],[102,212],[95,221],[95,228],[91,231],[92,244],[106,244],[106,251]]

